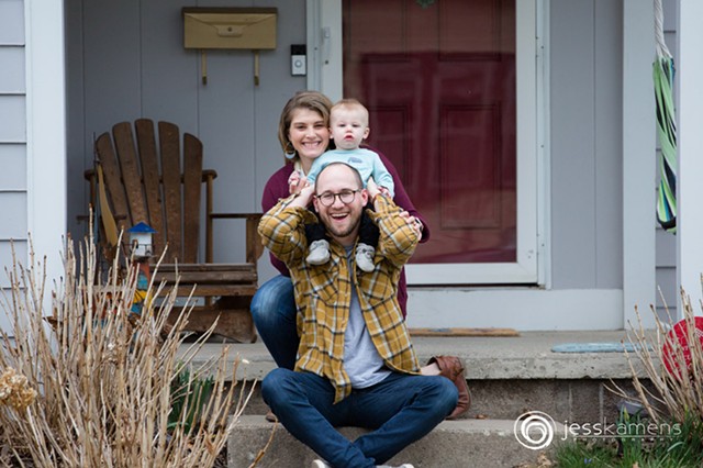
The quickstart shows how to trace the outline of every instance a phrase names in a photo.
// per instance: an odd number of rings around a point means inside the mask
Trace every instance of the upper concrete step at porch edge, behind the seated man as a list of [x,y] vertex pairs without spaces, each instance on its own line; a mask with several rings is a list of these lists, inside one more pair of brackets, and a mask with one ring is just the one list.
[[[464,359],[472,395],[468,417],[515,420],[528,411],[543,411],[565,423],[614,420],[621,398],[607,387],[612,380],[632,389],[632,370],[623,353],[554,353],[551,348],[565,343],[617,343],[624,336],[623,331],[523,332],[517,337],[415,337],[413,342],[421,363],[443,354]],[[246,359],[237,368],[239,381],[260,381],[276,366],[260,342],[230,346],[232,360]],[[221,350],[221,345],[207,344],[196,364],[216,358]],[[246,413],[266,411],[257,392]]]

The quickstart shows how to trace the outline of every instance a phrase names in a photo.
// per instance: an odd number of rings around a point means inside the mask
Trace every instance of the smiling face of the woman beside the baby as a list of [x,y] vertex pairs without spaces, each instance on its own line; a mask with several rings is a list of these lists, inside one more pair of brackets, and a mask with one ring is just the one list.
[[288,138],[298,152],[301,163],[312,161],[330,145],[327,123],[322,115],[310,109],[295,109],[292,115]]

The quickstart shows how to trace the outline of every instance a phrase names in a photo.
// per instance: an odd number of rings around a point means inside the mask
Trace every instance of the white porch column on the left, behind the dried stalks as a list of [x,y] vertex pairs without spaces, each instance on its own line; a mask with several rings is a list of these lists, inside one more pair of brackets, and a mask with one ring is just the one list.
[[26,0],[27,227],[36,260],[47,257],[44,305],[64,271],[66,235],[66,87],[64,2]]

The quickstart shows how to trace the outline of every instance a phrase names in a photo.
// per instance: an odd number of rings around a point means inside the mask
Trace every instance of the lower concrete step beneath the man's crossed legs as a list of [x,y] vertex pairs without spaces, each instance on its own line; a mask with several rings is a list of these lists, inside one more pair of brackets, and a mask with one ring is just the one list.
[[[563,426],[557,425],[551,433],[553,444],[545,449],[533,450],[517,441],[514,424],[514,421],[507,420],[445,421],[388,464],[393,466],[410,463],[416,468],[534,466],[540,454],[550,456],[565,434]],[[339,432],[354,439],[365,431],[342,427]],[[533,441],[537,441],[539,436],[538,430],[529,432]],[[249,467],[263,449],[265,450],[257,468],[306,468],[312,460],[319,458],[280,424],[269,423],[261,415],[241,416],[227,444],[228,468]]]

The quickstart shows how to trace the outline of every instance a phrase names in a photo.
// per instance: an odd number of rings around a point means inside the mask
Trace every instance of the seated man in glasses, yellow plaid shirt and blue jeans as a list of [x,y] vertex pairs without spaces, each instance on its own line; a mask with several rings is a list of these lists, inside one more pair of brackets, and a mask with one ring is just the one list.
[[[354,246],[369,198],[380,258],[373,271],[362,272]],[[311,200],[332,239],[331,261],[320,266],[305,261]],[[324,458],[313,468],[382,466],[451,413],[457,388],[444,377],[420,375],[397,300],[400,270],[420,238],[417,224],[372,179],[364,189],[356,169],[330,164],[314,187],[268,211],[259,233],[290,269],[300,335],[295,370],[269,372],[261,393],[283,426]],[[338,426],[371,432],[350,442]]]

